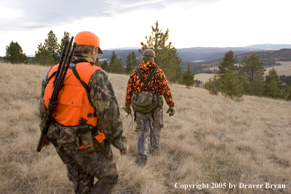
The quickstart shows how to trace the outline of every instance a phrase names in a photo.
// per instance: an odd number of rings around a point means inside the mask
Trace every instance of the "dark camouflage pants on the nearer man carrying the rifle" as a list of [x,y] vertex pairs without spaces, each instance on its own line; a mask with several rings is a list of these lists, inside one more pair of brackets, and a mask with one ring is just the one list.
[[[65,146],[56,148],[67,166],[68,178],[73,182],[75,194],[110,194],[118,181],[115,159],[108,141],[101,143],[109,152],[105,155],[97,146],[79,149],[73,153]],[[94,177],[98,181],[94,184]]]

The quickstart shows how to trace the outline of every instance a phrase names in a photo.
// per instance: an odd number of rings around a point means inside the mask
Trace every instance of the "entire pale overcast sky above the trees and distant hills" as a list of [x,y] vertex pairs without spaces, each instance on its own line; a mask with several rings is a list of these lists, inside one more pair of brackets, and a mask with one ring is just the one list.
[[92,31],[101,49],[141,47],[159,22],[177,48],[291,44],[291,0],[0,0],[0,56],[34,54],[52,30]]

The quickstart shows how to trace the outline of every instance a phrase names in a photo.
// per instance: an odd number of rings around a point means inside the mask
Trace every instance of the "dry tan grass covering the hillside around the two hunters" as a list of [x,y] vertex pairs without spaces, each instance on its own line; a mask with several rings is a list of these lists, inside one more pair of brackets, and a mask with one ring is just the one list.
[[[36,151],[38,105],[48,67],[0,64],[0,193],[72,194],[64,164],[52,145]],[[109,74],[119,105],[128,76]],[[166,115],[160,153],[136,164],[136,135],[124,131],[129,148],[114,148],[120,181],[114,194],[291,193],[291,102],[245,96],[211,96],[199,88],[170,85],[176,113]],[[121,115],[124,115],[121,110]],[[285,184],[286,189],[238,189],[244,184]],[[226,183],[226,189],[176,189],[180,184]],[[237,189],[228,189],[236,184]]]

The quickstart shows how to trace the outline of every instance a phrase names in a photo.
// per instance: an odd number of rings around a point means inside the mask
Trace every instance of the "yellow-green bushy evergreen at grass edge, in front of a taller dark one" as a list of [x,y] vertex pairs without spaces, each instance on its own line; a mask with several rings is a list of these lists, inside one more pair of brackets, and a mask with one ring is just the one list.
[[227,69],[225,71],[224,78],[221,80],[220,89],[224,97],[230,97],[236,101],[243,100],[243,89],[239,82],[239,76],[233,73],[232,70]]

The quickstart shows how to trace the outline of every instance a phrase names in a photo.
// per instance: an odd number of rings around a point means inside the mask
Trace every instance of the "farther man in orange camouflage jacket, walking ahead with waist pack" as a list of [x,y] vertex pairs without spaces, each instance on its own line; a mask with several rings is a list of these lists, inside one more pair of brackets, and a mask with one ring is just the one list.
[[150,152],[157,154],[161,129],[164,127],[163,96],[169,109],[167,113],[174,115],[174,102],[170,92],[169,83],[163,71],[154,61],[155,52],[145,49],[142,55],[143,62],[132,71],[129,76],[124,110],[131,113],[132,104],[135,131],[137,132],[138,160],[146,163],[148,155],[147,137],[150,137]]

